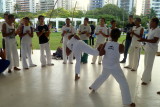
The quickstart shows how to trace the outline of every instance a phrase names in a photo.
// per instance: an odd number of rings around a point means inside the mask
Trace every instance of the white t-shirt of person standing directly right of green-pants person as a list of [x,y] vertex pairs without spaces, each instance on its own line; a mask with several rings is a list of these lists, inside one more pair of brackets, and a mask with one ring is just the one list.
[[[101,27],[100,25],[98,25],[96,27],[95,34],[99,33],[99,31],[102,31],[105,35],[108,35],[106,26]],[[102,34],[97,35],[97,43],[105,43],[105,41],[106,41],[106,37],[104,37]]]

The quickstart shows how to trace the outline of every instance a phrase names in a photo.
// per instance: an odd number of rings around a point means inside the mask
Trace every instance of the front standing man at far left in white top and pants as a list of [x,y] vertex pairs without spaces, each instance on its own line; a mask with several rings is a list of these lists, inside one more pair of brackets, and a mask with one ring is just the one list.
[[19,66],[18,52],[17,52],[17,43],[15,36],[18,32],[15,31],[14,27],[14,15],[8,15],[8,21],[6,24],[3,24],[2,33],[5,37],[5,46],[6,46],[6,56],[7,60],[10,61],[8,73],[12,72],[12,67],[14,70],[20,70],[17,68]]

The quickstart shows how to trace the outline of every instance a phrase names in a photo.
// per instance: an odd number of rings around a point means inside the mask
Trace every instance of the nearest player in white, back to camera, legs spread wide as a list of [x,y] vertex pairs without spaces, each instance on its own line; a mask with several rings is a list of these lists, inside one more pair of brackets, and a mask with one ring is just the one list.
[[103,82],[112,74],[112,76],[120,85],[123,104],[135,107],[135,104],[131,101],[131,95],[127,80],[119,64],[120,53],[124,52],[124,46],[117,43],[120,35],[121,32],[119,29],[113,29],[111,31],[112,41],[109,41],[102,46],[100,50],[100,55],[104,55],[103,72],[89,87],[89,89],[92,91],[96,91],[103,84]]

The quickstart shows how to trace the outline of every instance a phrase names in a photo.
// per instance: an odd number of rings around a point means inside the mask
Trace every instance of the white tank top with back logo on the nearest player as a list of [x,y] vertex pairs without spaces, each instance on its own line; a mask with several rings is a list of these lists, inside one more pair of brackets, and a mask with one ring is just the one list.
[[119,67],[119,44],[117,42],[109,41],[105,46],[105,55],[103,58],[104,68]]

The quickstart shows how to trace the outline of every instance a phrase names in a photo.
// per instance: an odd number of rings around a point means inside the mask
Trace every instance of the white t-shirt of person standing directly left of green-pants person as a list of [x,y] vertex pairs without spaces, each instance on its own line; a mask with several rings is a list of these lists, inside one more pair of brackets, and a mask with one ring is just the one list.
[[67,33],[64,34],[63,36],[63,41],[67,42],[68,41],[68,36],[75,34],[76,33],[76,29],[73,26],[67,27],[66,25],[62,27],[62,33],[63,31],[66,31]]

